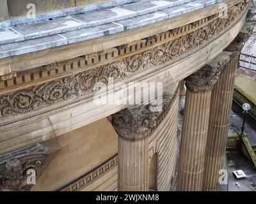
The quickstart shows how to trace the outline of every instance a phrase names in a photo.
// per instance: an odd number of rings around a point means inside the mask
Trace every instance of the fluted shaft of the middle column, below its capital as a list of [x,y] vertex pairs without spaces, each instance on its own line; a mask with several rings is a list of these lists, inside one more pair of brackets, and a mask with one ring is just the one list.
[[210,105],[211,91],[187,90],[177,191],[202,190]]

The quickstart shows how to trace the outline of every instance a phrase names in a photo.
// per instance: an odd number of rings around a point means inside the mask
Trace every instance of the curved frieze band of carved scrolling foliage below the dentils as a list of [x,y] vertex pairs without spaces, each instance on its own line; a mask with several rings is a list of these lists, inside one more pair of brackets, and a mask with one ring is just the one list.
[[[11,117],[19,113],[40,110],[45,106],[49,107],[49,105],[79,98],[79,96],[90,97],[96,91],[95,84],[97,82],[108,84],[109,77],[113,77],[115,82],[129,80],[129,78],[147,69],[172,61],[219,34],[239,17],[244,7],[244,2],[232,6],[228,10],[228,18],[216,18],[216,20],[212,20],[209,24],[191,33],[140,54],[126,57],[121,61],[111,62],[71,77],[0,96],[0,117]],[[198,24],[198,22],[195,22],[195,24]],[[51,67],[54,68],[54,66]]]

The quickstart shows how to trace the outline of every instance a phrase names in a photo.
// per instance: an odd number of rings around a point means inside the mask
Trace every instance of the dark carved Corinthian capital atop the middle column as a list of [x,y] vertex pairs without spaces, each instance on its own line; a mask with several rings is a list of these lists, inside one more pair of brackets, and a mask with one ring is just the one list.
[[193,92],[211,91],[218,82],[221,71],[232,59],[232,55],[234,55],[232,52],[221,52],[218,57],[186,78],[186,87]]

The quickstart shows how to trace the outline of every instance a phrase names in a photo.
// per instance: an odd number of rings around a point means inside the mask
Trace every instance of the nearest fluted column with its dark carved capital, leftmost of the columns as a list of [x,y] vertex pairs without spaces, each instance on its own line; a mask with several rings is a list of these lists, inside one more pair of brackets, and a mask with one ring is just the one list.
[[148,191],[148,136],[168,113],[171,99],[164,92],[157,105],[134,105],[112,115],[118,133],[118,191]]

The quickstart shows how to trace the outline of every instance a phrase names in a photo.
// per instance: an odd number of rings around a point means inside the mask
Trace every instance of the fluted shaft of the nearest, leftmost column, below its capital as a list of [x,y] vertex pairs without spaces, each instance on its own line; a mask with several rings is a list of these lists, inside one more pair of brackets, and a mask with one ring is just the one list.
[[118,138],[118,191],[148,191],[148,138]]

